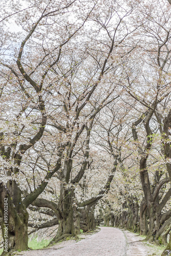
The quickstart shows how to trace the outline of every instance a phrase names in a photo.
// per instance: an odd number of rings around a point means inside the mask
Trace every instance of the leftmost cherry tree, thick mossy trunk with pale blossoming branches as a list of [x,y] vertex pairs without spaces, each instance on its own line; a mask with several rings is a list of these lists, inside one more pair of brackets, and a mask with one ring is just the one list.
[[[34,3],[32,12],[26,8],[25,12],[19,13],[16,18],[18,30],[21,26],[23,34],[20,35],[20,31],[9,32],[9,37],[6,32],[2,38],[1,216],[4,220],[4,198],[8,198],[8,250],[28,248],[26,208],[42,193],[48,180],[61,167],[60,148],[53,170],[47,170],[38,186],[23,198],[15,176],[22,173],[23,157],[30,148],[36,146],[45,132],[48,118],[46,102],[51,93],[48,90],[51,87],[48,77],[50,73],[55,72],[53,67],[61,57],[62,47],[65,47],[83,27],[94,7],[94,4],[89,6],[82,16],[83,8],[75,2],[53,1],[42,2],[40,5]],[[83,5],[87,6],[87,3]],[[73,15],[78,12],[75,26],[69,23],[69,12]],[[66,22],[62,22],[63,15],[66,16]],[[59,20],[62,24],[60,29]],[[3,22],[5,23],[6,19]],[[52,38],[56,39],[55,45]],[[47,46],[49,40],[50,44]],[[3,225],[4,221],[2,227]]]

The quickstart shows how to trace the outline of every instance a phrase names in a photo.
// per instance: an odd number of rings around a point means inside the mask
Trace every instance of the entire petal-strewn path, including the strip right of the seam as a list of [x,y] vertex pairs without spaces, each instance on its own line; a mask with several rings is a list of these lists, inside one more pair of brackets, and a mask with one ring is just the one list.
[[[100,227],[95,234],[83,234],[79,242],[63,241],[40,250],[17,253],[25,256],[147,256],[158,255],[149,252],[140,242],[140,237],[129,231],[113,227]],[[161,254],[160,254],[161,255]]]

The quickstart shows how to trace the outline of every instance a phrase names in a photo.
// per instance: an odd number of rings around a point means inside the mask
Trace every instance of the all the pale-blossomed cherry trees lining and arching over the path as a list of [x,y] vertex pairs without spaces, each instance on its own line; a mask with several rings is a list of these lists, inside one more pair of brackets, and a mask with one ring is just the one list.
[[8,251],[28,248],[28,226],[58,225],[53,243],[94,228],[95,212],[107,208],[111,225],[165,243],[169,4],[33,0],[11,7],[0,22],[0,217],[5,239],[8,198]]

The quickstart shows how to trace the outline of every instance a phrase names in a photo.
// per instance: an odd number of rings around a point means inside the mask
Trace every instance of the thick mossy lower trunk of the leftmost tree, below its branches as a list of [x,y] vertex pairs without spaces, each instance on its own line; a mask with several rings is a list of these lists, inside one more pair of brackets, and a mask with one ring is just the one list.
[[7,186],[1,184],[0,194],[2,232],[5,241],[3,254],[10,250],[27,250],[28,212],[22,203],[20,189],[15,181],[8,181]]

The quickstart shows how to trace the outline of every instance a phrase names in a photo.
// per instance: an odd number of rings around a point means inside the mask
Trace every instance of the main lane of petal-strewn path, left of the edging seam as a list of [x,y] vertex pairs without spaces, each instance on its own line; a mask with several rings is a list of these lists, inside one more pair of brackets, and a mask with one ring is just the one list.
[[46,253],[46,256],[123,256],[126,255],[126,241],[121,230],[100,227],[101,230],[87,239]]

